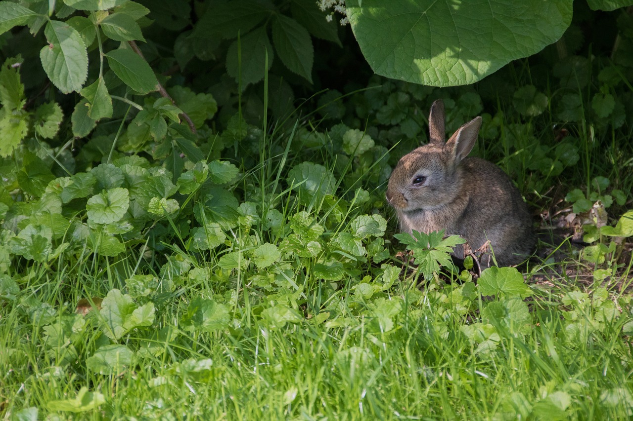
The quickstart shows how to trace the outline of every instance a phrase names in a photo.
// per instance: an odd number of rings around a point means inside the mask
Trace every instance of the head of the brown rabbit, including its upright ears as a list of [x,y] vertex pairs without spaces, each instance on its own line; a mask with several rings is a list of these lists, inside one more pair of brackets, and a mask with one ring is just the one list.
[[389,178],[387,202],[398,214],[433,210],[453,202],[463,181],[461,161],[477,140],[481,117],[461,126],[444,142],[444,103],[438,99],[429,115],[429,143],[403,156]]

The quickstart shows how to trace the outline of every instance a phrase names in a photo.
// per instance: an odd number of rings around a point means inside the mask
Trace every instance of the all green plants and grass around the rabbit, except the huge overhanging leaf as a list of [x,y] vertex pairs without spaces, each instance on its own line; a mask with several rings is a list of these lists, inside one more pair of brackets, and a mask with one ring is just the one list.
[[[459,88],[373,75],[311,0],[0,3],[0,413],[629,417],[633,16],[596,3]],[[438,97],[575,224],[522,273],[394,236]]]

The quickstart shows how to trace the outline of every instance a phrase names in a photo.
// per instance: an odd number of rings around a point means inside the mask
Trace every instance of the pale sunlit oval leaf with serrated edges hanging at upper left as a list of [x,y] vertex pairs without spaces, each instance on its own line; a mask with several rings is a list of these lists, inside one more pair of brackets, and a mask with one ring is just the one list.
[[88,52],[75,28],[51,20],[44,29],[48,45],[41,49],[44,71],[61,92],[79,92],[88,76]]

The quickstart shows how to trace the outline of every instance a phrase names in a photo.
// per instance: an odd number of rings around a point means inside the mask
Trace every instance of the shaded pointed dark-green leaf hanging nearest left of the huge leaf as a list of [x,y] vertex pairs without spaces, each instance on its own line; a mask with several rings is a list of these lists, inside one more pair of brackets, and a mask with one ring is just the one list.
[[276,15],[273,20],[273,43],[282,63],[308,82],[312,83],[314,48],[308,30],[296,20]]

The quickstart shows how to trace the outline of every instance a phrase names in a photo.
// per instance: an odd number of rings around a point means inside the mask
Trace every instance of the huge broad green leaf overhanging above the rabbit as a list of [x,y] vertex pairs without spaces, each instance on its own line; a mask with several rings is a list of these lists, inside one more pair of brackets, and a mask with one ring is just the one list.
[[572,0],[349,0],[348,18],[373,71],[406,82],[477,82],[560,39]]

